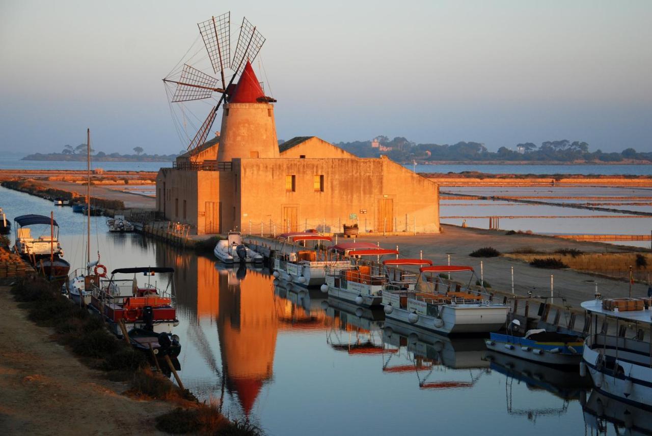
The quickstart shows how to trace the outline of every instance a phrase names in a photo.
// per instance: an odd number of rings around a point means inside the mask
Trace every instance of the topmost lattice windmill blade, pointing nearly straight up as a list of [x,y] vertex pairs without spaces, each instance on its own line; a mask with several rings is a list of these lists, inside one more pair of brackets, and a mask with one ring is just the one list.
[[224,68],[230,67],[231,59],[231,12],[197,23],[200,28],[213,71],[222,76],[222,88],[226,88]]

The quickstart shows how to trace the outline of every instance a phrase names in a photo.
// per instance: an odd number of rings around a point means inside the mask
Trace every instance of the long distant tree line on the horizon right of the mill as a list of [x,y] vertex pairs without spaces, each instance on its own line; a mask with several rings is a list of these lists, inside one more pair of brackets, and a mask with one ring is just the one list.
[[[534,143],[516,144],[514,148],[500,147],[490,152],[483,143],[464,142],[456,144],[416,144],[404,137],[389,139],[386,136],[374,138],[381,147],[372,147],[372,141],[339,143],[338,146],[359,157],[378,157],[381,154],[399,163],[412,161],[556,161],[556,162],[621,162],[625,159],[652,162],[652,152],[637,152],[626,148],[622,152],[605,153],[602,150],[589,151],[584,141],[544,141],[540,146]],[[374,141],[374,143],[376,143]],[[391,149],[391,150],[390,150]]]

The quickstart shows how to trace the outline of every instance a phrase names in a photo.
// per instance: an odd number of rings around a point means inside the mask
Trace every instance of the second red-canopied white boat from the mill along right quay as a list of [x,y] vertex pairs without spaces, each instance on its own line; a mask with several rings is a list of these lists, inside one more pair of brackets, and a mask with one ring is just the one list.
[[339,298],[363,307],[380,307],[383,299],[382,290],[387,277],[385,268],[378,262],[362,260],[362,258],[376,258],[387,254],[396,254],[398,251],[381,249],[368,242],[344,242],[329,248],[329,258],[340,256],[349,259],[347,267],[326,266],[326,283],[321,285],[321,291],[327,292],[329,297]]

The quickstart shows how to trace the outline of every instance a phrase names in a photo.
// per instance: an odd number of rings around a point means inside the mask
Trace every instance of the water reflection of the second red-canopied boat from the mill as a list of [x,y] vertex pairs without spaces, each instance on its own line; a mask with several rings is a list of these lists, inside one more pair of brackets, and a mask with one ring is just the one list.
[[329,297],[322,305],[328,318],[333,320],[326,342],[337,351],[349,355],[393,353],[383,346],[383,310],[372,310]]

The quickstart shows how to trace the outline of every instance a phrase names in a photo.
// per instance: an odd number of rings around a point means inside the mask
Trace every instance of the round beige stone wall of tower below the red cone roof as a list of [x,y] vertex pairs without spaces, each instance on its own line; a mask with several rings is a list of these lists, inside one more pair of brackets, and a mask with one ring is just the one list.
[[278,141],[271,103],[227,103],[222,111],[217,160],[235,157],[278,157]]

